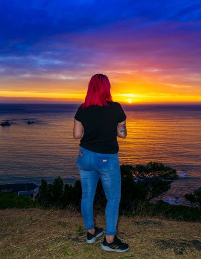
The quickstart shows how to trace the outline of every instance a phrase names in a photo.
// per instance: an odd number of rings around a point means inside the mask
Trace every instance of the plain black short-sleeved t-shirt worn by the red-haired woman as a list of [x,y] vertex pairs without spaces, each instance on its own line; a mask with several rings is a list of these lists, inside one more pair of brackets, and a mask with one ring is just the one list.
[[84,109],[80,105],[74,118],[84,127],[80,147],[96,153],[116,154],[119,151],[117,125],[127,116],[119,102],[107,103],[109,106],[90,105]]

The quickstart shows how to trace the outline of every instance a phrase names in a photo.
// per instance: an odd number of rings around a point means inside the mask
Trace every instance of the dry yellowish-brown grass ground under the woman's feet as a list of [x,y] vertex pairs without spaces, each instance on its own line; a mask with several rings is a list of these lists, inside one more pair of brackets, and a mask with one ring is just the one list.
[[[97,225],[105,226],[104,217]],[[0,211],[0,258],[201,258],[201,223],[121,217],[124,253],[100,248],[103,237],[86,244],[81,215],[64,210]]]

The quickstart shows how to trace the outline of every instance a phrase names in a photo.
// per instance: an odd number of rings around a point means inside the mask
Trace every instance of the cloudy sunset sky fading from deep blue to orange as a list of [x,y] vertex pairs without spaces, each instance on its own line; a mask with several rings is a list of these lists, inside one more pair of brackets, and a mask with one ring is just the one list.
[[0,103],[82,103],[92,75],[121,103],[201,104],[201,2],[0,2]]

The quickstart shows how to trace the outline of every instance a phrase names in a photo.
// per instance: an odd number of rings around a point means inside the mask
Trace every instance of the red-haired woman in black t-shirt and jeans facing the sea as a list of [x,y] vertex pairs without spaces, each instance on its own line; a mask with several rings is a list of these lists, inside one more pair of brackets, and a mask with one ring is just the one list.
[[106,75],[95,74],[88,83],[85,102],[74,116],[74,139],[80,140],[77,158],[82,199],[81,213],[87,230],[87,243],[93,243],[103,234],[103,228],[94,226],[93,199],[98,179],[102,181],[107,198],[106,237],[102,248],[123,252],[129,245],[117,237],[117,220],[121,197],[121,172],[117,136],[125,139],[126,114],[120,103],[113,102],[110,81]]

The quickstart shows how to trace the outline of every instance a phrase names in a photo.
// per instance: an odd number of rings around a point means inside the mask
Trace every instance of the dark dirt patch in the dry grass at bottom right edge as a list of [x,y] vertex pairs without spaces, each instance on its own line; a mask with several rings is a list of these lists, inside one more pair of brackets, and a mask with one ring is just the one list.
[[201,241],[197,239],[185,240],[169,238],[167,240],[157,240],[156,243],[162,249],[173,249],[176,255],[187,254],[189,250],[201,251]]

